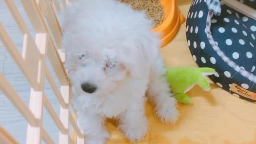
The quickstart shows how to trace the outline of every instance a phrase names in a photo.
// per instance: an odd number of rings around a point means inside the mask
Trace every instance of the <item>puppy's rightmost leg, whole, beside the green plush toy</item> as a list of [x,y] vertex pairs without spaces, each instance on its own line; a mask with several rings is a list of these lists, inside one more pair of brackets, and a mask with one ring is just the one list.
[[176,108],[176,99],[171,93],[167,78],[164,60],[160,57],[150,72],[150,82],[147,95],[156,106],[155,113],[162,122],[176,122],[179,112]]

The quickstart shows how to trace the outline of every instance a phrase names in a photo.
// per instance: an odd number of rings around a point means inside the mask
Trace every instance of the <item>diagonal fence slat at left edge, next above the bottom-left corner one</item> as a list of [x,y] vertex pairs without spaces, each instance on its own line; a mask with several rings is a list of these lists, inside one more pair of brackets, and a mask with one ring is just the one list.
[[32,126],[38,126],[39,121],[36,119],[34,114],[29,110],[26,103],[22,100],[19,94],[14,90],[11,84],[8,82],[6,77],[0,72],[0,89],[17,108],[17,110],[24,116],[29,124]]

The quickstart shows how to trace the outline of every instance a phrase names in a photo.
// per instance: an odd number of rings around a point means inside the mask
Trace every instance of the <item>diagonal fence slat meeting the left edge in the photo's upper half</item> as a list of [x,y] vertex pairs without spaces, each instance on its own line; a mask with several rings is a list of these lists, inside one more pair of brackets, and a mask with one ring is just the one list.
[[25,75],[28,82],[31,84],[31,86],[37,90],[38,89],[38,82],[36,80],[37,76],[33,75],[32,71],[30,70],[30,67],[25,63],[24,59],[22,58],[18,48],[14,44],[12,38],[10,35],[6,32],[6,29],[0,23],[0,38],[7,48],[9,54],[12,56],[16,64],[19,66],[20,70]]

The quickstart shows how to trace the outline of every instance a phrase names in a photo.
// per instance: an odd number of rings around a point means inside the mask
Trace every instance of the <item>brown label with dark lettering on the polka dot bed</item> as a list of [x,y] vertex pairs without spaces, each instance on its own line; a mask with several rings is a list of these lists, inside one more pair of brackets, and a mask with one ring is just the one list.
[[252,100],[256,100],[256,93],[251,92],[249,90],[246,90],[245,88],[242,88],[241,86],[238,86],[237,84],[232,84],[230,86],[230,90],[232,92],[240,94],[241,96],[244,96],[246,98],[250,98]]

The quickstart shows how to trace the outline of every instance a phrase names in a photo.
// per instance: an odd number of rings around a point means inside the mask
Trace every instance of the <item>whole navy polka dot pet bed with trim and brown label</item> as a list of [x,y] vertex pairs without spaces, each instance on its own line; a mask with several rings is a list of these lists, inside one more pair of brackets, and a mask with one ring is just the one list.
[[[220,9],[209,4],[214,1]],[[256,0],[239,2],[256,9]],[[198,66],[216,69],[212,81],[234,96],[256,102],[256,20],[218,0],[194,0],[186,36]]]

